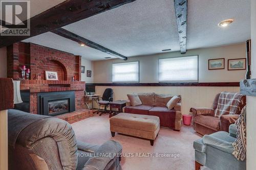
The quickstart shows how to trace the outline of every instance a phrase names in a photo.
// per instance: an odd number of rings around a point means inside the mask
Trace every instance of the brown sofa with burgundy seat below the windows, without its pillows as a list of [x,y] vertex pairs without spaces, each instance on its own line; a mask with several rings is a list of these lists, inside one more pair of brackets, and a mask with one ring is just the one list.
[[142,105],[131,106],[130,102],[127,102],[123,110],[125,113],[158,116],[160,118],[160,127],[180,131],[181,100],[174,109],[168,110],[166,103],[173,97],[172,95],[155,93],[138,93],[138,95]]

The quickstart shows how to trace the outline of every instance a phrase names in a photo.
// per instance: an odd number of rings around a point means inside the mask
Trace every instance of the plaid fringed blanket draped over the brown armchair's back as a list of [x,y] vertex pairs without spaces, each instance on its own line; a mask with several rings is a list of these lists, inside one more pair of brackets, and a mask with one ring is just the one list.
[[217,109],[215,110],[215,117],[224,114],[237,114],[240,113],[240,106],[243,105],[242,97],[244,95],[235,92],[223,91],[220,94]]

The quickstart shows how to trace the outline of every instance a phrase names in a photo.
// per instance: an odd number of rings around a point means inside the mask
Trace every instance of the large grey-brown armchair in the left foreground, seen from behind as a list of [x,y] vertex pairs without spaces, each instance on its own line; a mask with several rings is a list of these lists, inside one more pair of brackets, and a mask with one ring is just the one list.
[[121,169],[118,142],[94,145],[76,141],[66,121],[19,110],[8,110],[8,150],[10,170]]

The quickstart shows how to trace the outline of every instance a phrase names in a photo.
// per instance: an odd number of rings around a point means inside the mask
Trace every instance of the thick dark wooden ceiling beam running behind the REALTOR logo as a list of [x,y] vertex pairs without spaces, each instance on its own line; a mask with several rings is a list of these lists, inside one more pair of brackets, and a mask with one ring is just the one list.
[[[68,0],[30,19],[30,36],[1,36],[0,47],[11,45],[136,0]],[[26,21],[25,21],[26,22]]]

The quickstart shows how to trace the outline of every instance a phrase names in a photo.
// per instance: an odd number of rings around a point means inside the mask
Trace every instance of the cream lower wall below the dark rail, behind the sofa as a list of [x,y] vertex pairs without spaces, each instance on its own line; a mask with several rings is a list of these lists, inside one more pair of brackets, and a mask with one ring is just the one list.
[[[188,114],[191,107],[211,107],[215,95],[221,91],[239,91],[239,87],[123,87],[96,86],[96,93],[103,94],[106,88],[114,90],[114,100],[127,100],[129,93],[155,92],[160,94],[180,94],[182,114]],[[95,105],[96,106],[96,105]]]

